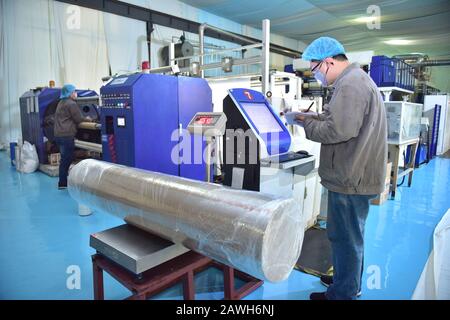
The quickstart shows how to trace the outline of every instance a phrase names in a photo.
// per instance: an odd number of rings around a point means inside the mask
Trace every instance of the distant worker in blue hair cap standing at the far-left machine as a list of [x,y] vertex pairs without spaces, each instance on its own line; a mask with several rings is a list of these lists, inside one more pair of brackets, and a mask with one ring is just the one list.
[[64,85],[55,112],[55,141],[61,153],[58,189],[67,188],[67,176],[73,161],[78,124],[83,121],[92,121],[90,117],[83,117],[75,102],[76,98],[75,86]]

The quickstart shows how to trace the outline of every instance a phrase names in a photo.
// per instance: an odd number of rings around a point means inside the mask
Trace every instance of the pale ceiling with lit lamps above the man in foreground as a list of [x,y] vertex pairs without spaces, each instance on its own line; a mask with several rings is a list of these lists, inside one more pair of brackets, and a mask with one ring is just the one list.
[[[376,54],[420,52],[450,58],[449,0],[181,0],[238,23],[261,28],[271,20],[271,31],[310,43],[320,36],[335,37],[347,51],[374,50]],[[380,29],[369,29],[354,19],[371,16],[370,5],[380,9]],[[408,45],[384,41],[402,39]],[[295,49],[295,48],[294,48]]]

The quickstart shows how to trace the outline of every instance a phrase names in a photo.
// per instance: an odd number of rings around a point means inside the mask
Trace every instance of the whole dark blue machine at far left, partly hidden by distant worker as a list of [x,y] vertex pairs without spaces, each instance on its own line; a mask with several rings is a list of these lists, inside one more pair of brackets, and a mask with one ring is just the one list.
[[[99,120],[97,93],[92,90],[77,90],[77,93],[76,102],[83,116],[89,116],[94,121]],[[25,92],[19,99],[22,140],[36,146],[41,164],[48,163],[49,154],[58,152],[54,143],[53,125],[60,94],[61,88],[36,88]],[[80,128],[76,139],[81,144],[99,144],[100,130]]]

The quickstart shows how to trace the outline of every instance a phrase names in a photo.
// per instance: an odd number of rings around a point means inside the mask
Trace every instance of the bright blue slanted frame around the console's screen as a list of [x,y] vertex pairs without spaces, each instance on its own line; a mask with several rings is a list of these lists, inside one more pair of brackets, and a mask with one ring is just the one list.
[[[283,121],[276,115],[275,111],[273,111],[270,103],[264,97],[264,95],[255,90],[250,89],[231,89],[229,90],[229,95],[231,99],[236,103],[236,106],[239,108],[240,112],[245,116],[249,123],[251,123],[254,130],[258,133],[258,135],[264,140],[264,143],[267,148],[268,155],[277,155],[283,154],[289,151],[291,146],[291,135],[289,134],[288,129],[284,125]],[[248,114],[246,109],[243,107],[243,103],[247,104],[264,104],[267,109],[272,114],[273,118],[278,122],[282,131],[280,132],[267,132],[261,133],[258,130],[258,126],[255,125],[254,119]]]

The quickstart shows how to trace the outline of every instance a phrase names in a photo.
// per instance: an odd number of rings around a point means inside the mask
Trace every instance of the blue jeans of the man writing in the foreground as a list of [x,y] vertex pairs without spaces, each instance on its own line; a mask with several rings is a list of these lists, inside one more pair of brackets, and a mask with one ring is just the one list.
[[356,299],[364,270],[364,227],[375,196],[328,191],[327,233],[333,251],[330,300]]

